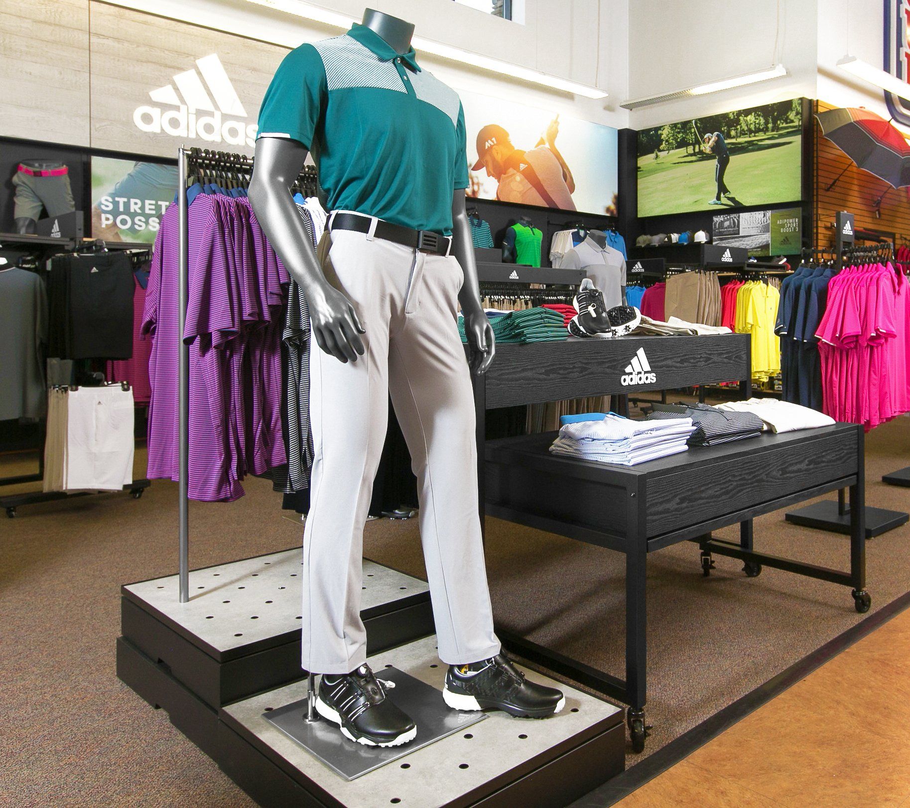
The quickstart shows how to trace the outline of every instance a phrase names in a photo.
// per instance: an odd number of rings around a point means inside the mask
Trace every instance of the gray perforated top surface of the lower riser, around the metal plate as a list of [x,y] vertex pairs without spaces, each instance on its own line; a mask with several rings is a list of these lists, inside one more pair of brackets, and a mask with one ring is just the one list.
[[[392,664],[433,685],[440,690],[442,698],[446,666],[436,655],[435,637],[383,651],[371,656],[369,663],[377,673],[381,673],[385,664]],[[450,803],[461,794],[620,712],[619,707],[554,682],[540,673],[531,671],[528,674],[535,682],[561,688],[566,697],[562,712],[541,721],[490,712],[487,720],[471,726],[467,732],[456,732],[352,781],[343,780],[263,718],[267,707],[275,709],[304,698],[306,682],[289,684],[231,704],[223,708],[223,712],[349,808],[387,808],[392,800],[396,801],[394,804],[430,808]],[[576,710],[578,712],[573,712]],[[466,738],[468,734],[472,737]],[[467,768],[461,768],[462,764],[467,764]]]

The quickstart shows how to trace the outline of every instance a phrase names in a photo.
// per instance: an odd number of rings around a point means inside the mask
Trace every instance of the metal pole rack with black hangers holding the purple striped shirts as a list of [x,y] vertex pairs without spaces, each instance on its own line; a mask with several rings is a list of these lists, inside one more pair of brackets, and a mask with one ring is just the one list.
[[[219,152],[214,149],[177,149],[177,237],[178,274],[177,284],[177,539],[178,539],[178,581],[181,603],[189,601],[189,346],[183,341],[187,321],[189,300],[189,206],[187,188],[190,179],[205,185],[211,180],[223,187],[249,185],[253,174],[254,159],[245,155]],[[291,193],[315,197],[319,189],[316,167],[305,166],[297,181],[291,186]]]

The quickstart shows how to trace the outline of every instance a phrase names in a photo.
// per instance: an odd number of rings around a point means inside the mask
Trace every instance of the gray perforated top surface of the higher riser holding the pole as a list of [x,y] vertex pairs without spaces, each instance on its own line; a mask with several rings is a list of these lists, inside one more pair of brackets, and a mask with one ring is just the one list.
[[[189,573],[189,601],[177,575],[124,587],[217,651],[230,651],[300,628],[302,550],[283,550]],[[424,581],[363,562],[361,609],[428,591]]]

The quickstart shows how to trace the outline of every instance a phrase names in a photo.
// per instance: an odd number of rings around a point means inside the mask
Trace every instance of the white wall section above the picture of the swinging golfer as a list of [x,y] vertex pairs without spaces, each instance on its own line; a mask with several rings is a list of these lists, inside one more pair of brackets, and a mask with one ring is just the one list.
[[658,96],[764,70],[773,61],[789,71],[789,76],[764,84],[641,107],[632,111],[630,126],[645,129],[787,98],[814,97],[818,17],[828,14],[826,7],[820,8],[828,2],[630,0],[626,98]]

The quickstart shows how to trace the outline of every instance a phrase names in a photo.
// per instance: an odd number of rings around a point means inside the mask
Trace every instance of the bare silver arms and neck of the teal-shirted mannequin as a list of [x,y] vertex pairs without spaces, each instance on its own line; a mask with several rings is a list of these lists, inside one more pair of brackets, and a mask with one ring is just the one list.
[[[410,48],[414,26],[398,17],[368,8],[363,15],[363,25],[379,34],[399,54]],[[256,142],[256,167],[249,186],[249,201],[269,242],[307,298],[317,345],[341,362],[356,362],[364,353],[359,335],[366,330],[348,298],[331,286],[323,275],[319,261],[308,246],[303,219],[288,193],[307,155],[308,149],[297,140],[260,137]],[[464,272],[459,303],[470,348],[470,369],[481,374],[490,367],[495,344],[490,322],[480,305],[477,264],[463,189],[452,194],[450,254],[458,259]]]

